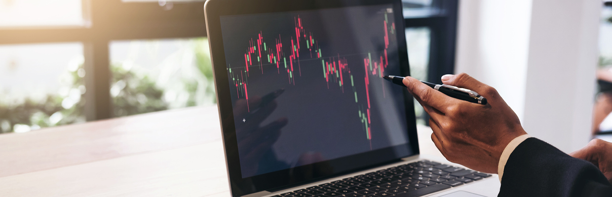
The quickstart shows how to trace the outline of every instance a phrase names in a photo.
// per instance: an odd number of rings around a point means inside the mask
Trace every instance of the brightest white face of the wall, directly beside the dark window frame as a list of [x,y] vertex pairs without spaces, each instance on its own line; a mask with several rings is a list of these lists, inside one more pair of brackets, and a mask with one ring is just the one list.
[[460,1],[455,73],[495,87],[523,120],[531,0]]

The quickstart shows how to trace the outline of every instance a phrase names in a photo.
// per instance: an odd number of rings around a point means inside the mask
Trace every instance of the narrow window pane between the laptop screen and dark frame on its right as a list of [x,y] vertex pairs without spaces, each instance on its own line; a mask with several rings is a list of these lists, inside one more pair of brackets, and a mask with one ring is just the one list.
[[[431,32],[428,27],[406,29],[406,45],[408,45],[408,61],[410,74],[420,81],[427,81]],[[414,110],[417,124],[425,125],[425,112],[419,102],[414,100]]]

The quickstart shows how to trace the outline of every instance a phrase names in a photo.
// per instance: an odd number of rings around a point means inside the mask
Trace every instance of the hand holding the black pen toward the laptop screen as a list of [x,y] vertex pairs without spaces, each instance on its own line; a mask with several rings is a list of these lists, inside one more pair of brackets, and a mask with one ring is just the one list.
[[450,162],[497,173],[499,157],[508,143],[526,134],[497,90],[468,74],[447,74],[442,82],[476,91],[487,98],[486,105],[444,95],[412,77],[405,77],[403,82],[431,116],[431,140]]

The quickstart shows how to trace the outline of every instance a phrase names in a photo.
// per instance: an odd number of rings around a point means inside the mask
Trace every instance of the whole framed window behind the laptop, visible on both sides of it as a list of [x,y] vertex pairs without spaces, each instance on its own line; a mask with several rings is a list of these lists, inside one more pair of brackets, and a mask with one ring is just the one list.
[[[412,73],[440,83],[454,70],[458,2],[403,2]],[[0,132],[214,104],[203,6],[203,0],[0,1]],[[28,80],[32,73],[45,76]],[[11,111],[40,99],[53,102]]]

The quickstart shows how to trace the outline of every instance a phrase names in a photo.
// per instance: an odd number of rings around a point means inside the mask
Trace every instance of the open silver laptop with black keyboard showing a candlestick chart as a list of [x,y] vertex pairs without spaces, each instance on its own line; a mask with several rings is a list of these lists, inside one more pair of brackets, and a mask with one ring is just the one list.
[[204,5],[232,196],[497,196],[419,154],[400,0]]

